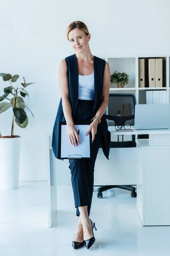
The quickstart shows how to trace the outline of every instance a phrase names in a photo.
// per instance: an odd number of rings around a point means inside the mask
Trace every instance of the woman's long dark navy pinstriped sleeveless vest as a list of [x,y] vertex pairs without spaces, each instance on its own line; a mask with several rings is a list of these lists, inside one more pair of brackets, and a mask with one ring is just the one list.
[[[70,105],[72,111],[73,121],[76,117],[77,105],[78,105],[78,65],[76,54],[70,55],[65,58],[68,70],[68,82],[70,90]],[[96,115],[97,110],[101,105],[102,89],[103,89],[103,75],[105,69],[105,60],[94,56],[94,91],[95,91],[95,103],[93,109],[93,115]],[[54,123],[53,134],[52,134],[52,149],[56,158],[58,158],[58,130],[59,122],[65,122],[64,113],[62,110],[62,98],[60,99],[57,116]],[[109,159],[111,133],[108,131],[108,123],[105,119],[105,115],[102,116],[100,122],[100,128],[102,131],[102,149],[105,157]]]

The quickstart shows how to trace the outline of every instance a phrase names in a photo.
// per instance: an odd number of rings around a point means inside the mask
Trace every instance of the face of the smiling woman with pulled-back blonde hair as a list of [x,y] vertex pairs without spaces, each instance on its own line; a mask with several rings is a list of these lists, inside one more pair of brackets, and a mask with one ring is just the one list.
[[89,47],[90,34],[85,35],[85,32],[81,29],[73,29],[68,33],[68,39],[74,50],[80,53],[86,51]]

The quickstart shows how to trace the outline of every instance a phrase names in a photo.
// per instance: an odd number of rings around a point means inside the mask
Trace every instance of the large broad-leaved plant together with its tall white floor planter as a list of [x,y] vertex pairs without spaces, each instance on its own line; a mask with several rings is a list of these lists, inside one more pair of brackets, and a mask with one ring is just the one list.
[[[20,136],[14,135],[14,120],[20,128],[26,128],[28,125],[28,116],[24,111],[28,107],[23,98],[28,96],[28,92],[25,90],[26,87],[34,83],[26,83],[23,77],[24,83],[21,83],[22,87],[18,88],[17,85],[17,88],[15,88],[13,83],[17,81],[19,75],[11,76],[11,74],[0,73],[0,76],[3,77],[3,81],[10,83],[10,86],[4,88],[4,94],[0,96],[0,113],[8,110],[8,108],[12,108],[14,113],[11,123],[11,135],[2,136],[0,133],[0,188],[17,189],[20,168]],[[8,96],[12,96],[11,99]],[[4,102],[5,100],[7,102]],[[31,114],[34,117],[32,112]]]

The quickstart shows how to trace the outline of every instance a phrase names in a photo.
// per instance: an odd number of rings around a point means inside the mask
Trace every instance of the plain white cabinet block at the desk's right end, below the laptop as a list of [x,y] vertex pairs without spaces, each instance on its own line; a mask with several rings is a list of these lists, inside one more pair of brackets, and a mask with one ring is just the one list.
[[137,210],[143,226],[170,225],[170,148],[142,148]]

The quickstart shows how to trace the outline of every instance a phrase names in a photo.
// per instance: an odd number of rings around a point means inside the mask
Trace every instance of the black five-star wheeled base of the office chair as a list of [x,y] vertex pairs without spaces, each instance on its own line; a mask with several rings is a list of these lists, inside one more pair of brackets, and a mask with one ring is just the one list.
[[129,190],[131,191],[131,197],[136,198],[137,194],[136,194],[136,188],[133,187],[135,185],[107,185],[107,186],[102,186],[99,189],[97,189],[98,194],[97,197],[98,198],[102,198],[102,192],[106,191],[108,189],[113,189],[113,188],[119,188],[119,189],[125,189],[125,190]]

